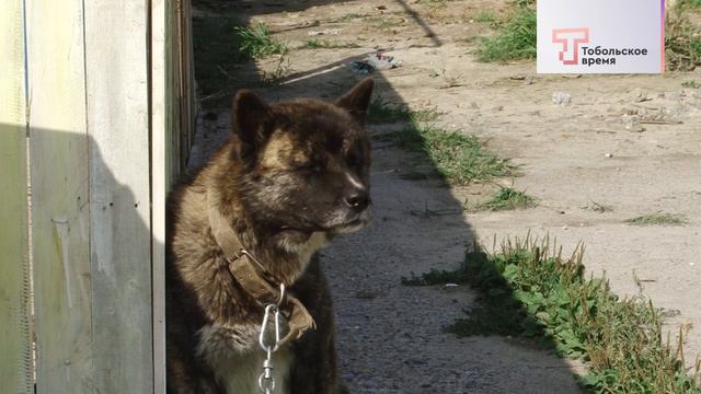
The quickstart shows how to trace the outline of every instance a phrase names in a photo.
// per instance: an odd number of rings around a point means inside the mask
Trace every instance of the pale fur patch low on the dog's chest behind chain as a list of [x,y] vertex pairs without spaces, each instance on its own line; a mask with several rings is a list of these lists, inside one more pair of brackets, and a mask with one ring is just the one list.
[[[207,325],[199,331],[197,355],[209,364],[228,394],[260,393],[265,352],[258,346],[255,326],[221,327]],[[273,354],[275,393],[289,392],[291,352],[287,346]]]

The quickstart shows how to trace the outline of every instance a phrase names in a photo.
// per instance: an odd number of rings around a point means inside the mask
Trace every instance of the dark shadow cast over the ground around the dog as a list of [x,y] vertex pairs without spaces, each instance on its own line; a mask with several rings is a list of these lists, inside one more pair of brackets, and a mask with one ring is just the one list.
[[[415,4],[403,0],[386,3],[401,5],[414,21],[421,37],[416,45],[441,45],[430,24],[414,10]],[[313,8],[313,18],[296,16],[294,23],[273,31],[323,30],[329,23],[322,8],[329,4],[336,10],[345,7],[338,1],[194,1],[195,69],[204,115],[191,166],[200,164],[228,137],[229,103],[237,89],[253,88],[272,101],[298,96],[332,100],[364,77],[347,65],[375,53],[372,47],[356,48],[347,56],[330,55],[324,61],[295,69],[274,84],[260,83],[261,62],[238,53],[234,25],[263,15],[303,15]],[[358,2],[347,4],[358,7]],[[381,72],[371,77],[376,96],[395,106],[406,105]],[[464,218],[463,202],[453,197],[444,179],[430,175],[438,171],[430,169],[434,165],[425,151],[406,152],[377,138],[398,127],[407,125],[369,125],[375,139],[372,225],[337,240],[323,253],[336,306],[341,372],[352,392],[579,392],[570,366],[530,341],[497,336],[457,338],[445,333],[445,326],[464,316],[463,309],[475,304],[472,290],[401,283],[411,273],[460,266],[466,251],[474,246],[474,234]],[[417,165],[427,166],[423,172],[429,176],[414,176]]]

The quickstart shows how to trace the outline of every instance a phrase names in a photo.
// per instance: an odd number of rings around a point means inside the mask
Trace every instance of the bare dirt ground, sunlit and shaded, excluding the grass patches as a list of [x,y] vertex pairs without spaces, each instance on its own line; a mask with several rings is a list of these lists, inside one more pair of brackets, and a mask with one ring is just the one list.
[[[220,3],[196,3],[197,23],[261,21],[290,51],[283,61],[222,69],[227,88],[203,93],[206,112],[193,164],[227,137],[230,113],[215,99],[226,103],[235,88],[255,88],[256,76],[276,70],[281,84],[256,88],[268,100],[335,97],[363,78],[348,62],[382,50],[402,67],[371,73],[378,95],[412,108],[435,107],[438,124],[486,140],[492,151],[521,165],[522,176],[499,183],[540,201],[527,210],[466,212],[466,202],[486,199],[494,186],[448,188],[436,179],[410,179],[413,158],[391,143],[375,144],[376,220],[324,252],[342,373],[354,393],[578,392],[576,363],[518,339],[444,333],[473,302],[470,289],[401,285],[412,271],[457,267],[475,234],[487,246],[495,235],[529,231],[556,237],[564,251],[584,242],[589,271],[605,271],[621,296],[637,292],[637,276],[658,306],[675,312],[673,338],[679,324],[696,327],[685,344],[688,362],[701,352],[701,90],[681,85],[701,73],[544,77],[532,61],[478,62],[475,36],[491,27],[475,19],[484,10],[503,14],[504,1]],[[341,47],[300,48],[310,38]],[[555,92],[570,94],[571,102],[554,104]],[[639,115],[644,130],[627,129],[625,114]],[[593,210],[597,204],[610,210]],[[651,212],[681,213],[688,223],[624,222]]]

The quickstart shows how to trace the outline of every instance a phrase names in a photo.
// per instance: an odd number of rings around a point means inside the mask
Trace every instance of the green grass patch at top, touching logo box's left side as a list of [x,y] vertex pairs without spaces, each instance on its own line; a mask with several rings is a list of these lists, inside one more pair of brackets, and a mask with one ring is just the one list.
[[508,61],[536,57],[536,11],[519,7],[493,37],[478,47],[481,61]]

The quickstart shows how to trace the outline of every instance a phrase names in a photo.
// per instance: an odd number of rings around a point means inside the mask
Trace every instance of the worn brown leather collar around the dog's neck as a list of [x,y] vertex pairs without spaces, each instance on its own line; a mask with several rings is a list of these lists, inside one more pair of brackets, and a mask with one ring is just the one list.
[[243,247],[229,221],[212,204],[209,193],[207,206],[211,233],[227,259],[231,276],[262,308],[267,304],[278,304],[287,318],[288,332],[280,339],[279,345],[290,339],[299,339],[307,329],[317,328],[313,317],[299,299],[285,291],[284,299],[280,300],[280,286],[274,286],[275,280],[263,264]]

